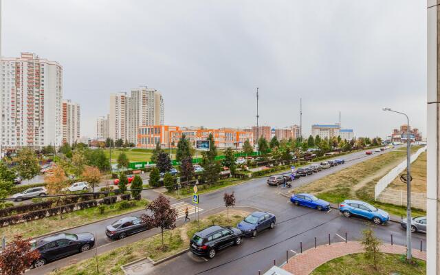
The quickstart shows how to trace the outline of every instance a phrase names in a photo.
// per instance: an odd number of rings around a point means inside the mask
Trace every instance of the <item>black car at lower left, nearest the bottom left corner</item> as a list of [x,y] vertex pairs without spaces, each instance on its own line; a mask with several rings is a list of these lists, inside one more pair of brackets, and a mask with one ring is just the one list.
[[32,242],[32,250],[39,250],[40,258],[32,265],[41,267],[48,261],[61,259],[78,252],[86,252],[95,245],[95,236],[91,233],[56,234]]

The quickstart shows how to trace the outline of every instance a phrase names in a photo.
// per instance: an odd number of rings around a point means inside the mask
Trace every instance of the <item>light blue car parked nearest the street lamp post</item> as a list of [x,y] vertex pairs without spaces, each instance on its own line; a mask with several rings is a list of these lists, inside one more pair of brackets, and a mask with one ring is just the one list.
[[358,216],[366,219],[370,219],[373,223],[381,224],[390,220],[390,215],[382,209],[375,208],[370,203],[364,201],[353,201],[346,199],[342,201],[339,206],[339,211],[344,214],[345,217]]

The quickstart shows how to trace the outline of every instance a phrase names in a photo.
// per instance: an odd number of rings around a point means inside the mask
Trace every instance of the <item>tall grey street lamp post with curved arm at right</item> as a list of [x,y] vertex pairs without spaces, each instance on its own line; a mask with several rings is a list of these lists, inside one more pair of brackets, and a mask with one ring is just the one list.
[[406,116],[406,260],[411,259],[411,153],[410,153],[410,119],[406,113],[383,108],[384,111],[392,111]]

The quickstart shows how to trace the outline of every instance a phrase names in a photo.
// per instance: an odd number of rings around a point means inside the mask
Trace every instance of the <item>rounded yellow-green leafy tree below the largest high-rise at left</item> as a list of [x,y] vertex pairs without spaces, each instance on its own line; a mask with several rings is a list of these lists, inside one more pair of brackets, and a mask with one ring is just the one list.
[[40,173],[39,159],[36,154],[30,148],[22,148],[17,157],[14,157],[14,162],[17,164],[15,168],[23,179],[32,179]]

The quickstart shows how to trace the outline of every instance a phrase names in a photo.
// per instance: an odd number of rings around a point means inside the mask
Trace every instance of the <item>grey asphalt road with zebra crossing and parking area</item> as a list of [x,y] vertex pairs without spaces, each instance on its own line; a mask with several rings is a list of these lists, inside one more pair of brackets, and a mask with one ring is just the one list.
[[[388,151],[382,153],[387,152]],[[319,173],[314,173],[307,177],[301,177],[300,179],[292,181],[292,185],[301,186],[307,184],[353,164],[375,157],[375,155],[365,155],[364,152],[358,152],[339,157],[345,159],[345,164],[322,170]],[[193,256],[189,252],[166,263],[156,265],[150,273],[181,275],[198,274],[199,272],[203,272],[202,274],[256,274],[258,270],[262,272],[268,270],[272,266],[274,259],[276,263],[283,263],[286,258],[286,250],[289,250],[290,256],[294,253],[290,250],[299,252],[300,242],[303,242],[303,250],[305,250],[314,246],[315,237],[317,237],[319,245],[320,243],[328,243],[328,234],[331,235],[331,241],[343,241],[342,238],[345,232],[348,234],[348,239],[353,240],[360,236],[360,231],[366,226],[366,223],[371,224],[362,219],[344,218],[339,214],[338,210],[318,212],[310,208],[296,207],[289,202],[287,197],[279,194],[281,188],[268,186],[265,183],[266,179],[267,177],[251,179],[243,184],[230,186],[228,192],[235,192],[236,206],[248,206],[276,214],[277,224],[274,230],[262,232],[259,236],[256,236],[255,239],[247,238],[243,241],[241,246],[227,248],[219,252],[216,258],[210,261]],[[200,195],[199,206],[205,210],[202,212],[202,217],[208,214],[208,210],[214,210],[214,208],[224,206],[223,192],[225,192],[225,190]],[[154,199],[157,195],[157,192],[153,190],[147,190],[142,193],[142,196],[148,199]],[[190,203],[190,200],[191,199],[188,198],[183,201]],[[174,202],[173,200],[172,203]],[[142,212],[144,212],[144,210],[137,211],[133,214],[137,215]],[[124,216],[133,214],[126,214]],[[120,241],[111,241],[105,236],[105,228],[117,219],[120,219],[120,217],[84,225],[74,230],[69,230],[69,232],[94,233],[96,236],[98,254],[133,241],[144,239],[158,232],[157,230],[148,230]],[[181,220],[178,221],[178,224],[181,224]],[[393,234],[395,243],[405,243],[405,232],[401,230],[396,223],[375,226],[375,232],[384,242],[389,242],[391,240],[391,234]],[[426,236],[424,234],[414,234],[413,241],[418,244],[420,240],[423,240],[424,249]],[[417,247],[417,245],[415,246]],[[45,274],[54,268],[76,263],[91,256],[93,256],[92,252],[76,254],[53,263],[48,263],[44,267],[27,272],[27,274]]]

